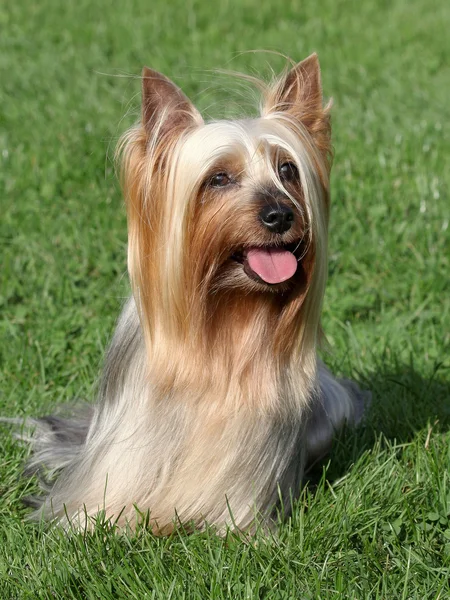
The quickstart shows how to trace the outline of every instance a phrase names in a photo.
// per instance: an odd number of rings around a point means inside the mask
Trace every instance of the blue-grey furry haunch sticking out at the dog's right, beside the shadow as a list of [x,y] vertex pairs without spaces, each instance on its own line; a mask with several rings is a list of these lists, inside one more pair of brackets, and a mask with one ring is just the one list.
[[336,379],[319,363],[320,393],[313,400],[306,430],[307,467],[323,458],[345,423],[358,425],[371,394],[349,379]]

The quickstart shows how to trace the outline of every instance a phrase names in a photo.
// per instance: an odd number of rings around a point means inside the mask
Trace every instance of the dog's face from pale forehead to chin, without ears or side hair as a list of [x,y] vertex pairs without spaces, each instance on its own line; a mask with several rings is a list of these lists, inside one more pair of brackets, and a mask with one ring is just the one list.
[[314,250],[304,165],[275,143],[277,128],[261,119],[193,134],[203,140],[207,169],[195,184],[188,246],[211,291],[286,294],[307,286]]

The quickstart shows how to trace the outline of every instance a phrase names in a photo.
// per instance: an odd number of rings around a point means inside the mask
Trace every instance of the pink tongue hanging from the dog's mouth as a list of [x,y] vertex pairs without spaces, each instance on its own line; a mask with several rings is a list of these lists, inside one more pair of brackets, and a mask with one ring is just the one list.
[[290,279],[297,270],[297,259],[282,248],[252,248],[247,252],[247,262],[266,283],[281,283]]

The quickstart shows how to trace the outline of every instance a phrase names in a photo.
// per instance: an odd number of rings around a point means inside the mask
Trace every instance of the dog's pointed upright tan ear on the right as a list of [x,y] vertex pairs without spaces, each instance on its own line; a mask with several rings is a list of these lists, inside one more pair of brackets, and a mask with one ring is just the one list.
[[[287,112],[313,136],[329,136],[331,103],[323,106],[320,65],[317,54],[311,54],[281,76],[267,91],[262,114]],[[320,144],[321,145],[321,144]]]

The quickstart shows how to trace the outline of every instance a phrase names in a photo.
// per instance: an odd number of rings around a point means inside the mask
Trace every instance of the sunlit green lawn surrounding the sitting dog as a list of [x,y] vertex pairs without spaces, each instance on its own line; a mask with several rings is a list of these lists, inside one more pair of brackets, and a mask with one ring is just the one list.
[[[67,535],[26,521],[0,429],[0,597],[450,598],[450,6],[40,0],[0,6],[0,413],[92,398],[126,279],[111,156],[148,64],[209,114],[313,50],[334,98],[328,364],[373,391],[272,538]],[[204,91],[206,90],[206,91]]]

